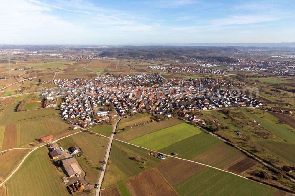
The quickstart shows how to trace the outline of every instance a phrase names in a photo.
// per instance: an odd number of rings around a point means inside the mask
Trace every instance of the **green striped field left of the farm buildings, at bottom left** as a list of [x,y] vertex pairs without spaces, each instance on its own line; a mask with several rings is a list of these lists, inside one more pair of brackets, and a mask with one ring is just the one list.
[[9,196],[69,195],[46,147],[37,149],[7,182]]

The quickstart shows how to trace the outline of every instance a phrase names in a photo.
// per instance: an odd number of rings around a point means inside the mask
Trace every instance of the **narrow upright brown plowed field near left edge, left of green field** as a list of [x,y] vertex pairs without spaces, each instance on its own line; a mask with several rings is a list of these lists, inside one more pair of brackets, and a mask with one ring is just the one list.
[[17,147],[17,125],[8,124],[5,127],[2,150]]

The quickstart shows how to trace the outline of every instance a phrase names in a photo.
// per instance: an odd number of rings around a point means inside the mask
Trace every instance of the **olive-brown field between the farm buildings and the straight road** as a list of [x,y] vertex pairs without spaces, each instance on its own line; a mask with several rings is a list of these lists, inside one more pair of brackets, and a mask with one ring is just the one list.
[[83,156],[76,157],[76,159],[86,173],[85,180],[95,184],[100,175],[99,167],[102,167],[108,139],[83,131],[61,139],[58,143],[66,149],[79,146],[83,150]]

